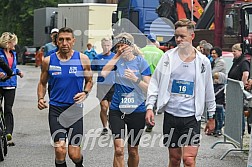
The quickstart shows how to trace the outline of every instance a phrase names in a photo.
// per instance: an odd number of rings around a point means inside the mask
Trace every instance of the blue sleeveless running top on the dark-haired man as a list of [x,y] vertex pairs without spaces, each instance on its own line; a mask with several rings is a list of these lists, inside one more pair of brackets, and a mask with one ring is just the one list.
[[50,56],[49,79],[51,85],[50,102],[54,106],[70,106],[73,97],[83,91],[84,69],[80,53],[74,51],[70,60],[62,62],[54,53]]

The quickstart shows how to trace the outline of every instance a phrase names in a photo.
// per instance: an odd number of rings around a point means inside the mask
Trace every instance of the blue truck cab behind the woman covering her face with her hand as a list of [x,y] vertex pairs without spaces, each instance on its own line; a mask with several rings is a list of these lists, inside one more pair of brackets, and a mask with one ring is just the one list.
[[154,33],[159,42],[169,41],[174,34],[173,23],[156,13],[159,0],[119,0],[112,15],[113,36],[126,31],[134,36],[139,47],[146,44],[145,35]]

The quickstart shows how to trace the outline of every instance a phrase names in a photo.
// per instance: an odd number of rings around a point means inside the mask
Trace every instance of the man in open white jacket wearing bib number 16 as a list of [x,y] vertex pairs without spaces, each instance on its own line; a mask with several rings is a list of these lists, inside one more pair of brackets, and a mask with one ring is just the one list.
[[194,167],[200,143],[200,119],[206,105],[209,119],[205,131],[214,131],[215,96],[211,64],[192,46],[194,23],[175,23],[177,47],[167,51],[152,75],[146,100],[146,122],[154,125],[153,106],[164,111],[164,145],[169,167]]

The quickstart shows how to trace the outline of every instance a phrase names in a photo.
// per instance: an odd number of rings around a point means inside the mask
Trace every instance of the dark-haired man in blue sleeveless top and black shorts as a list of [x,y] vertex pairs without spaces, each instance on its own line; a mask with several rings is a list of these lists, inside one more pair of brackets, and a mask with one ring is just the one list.
[[[55,166],[66,167],[66,153],[76,167],[83,167],[81,142],[83,137],[83,105],[92,88],[92,72],[88,57],[73,50],[73,30],[61,28],[57,38],[59,51],[42,63],[38,83],[38,108],[47,108],[44,100],[46,84],[51,80],[49,127],[54,141]],[[85,85],[84,85],[85,83]],[[84,85],[84,88],[83,88]],[[57,132],[57,133],[56,133]],[[71,136],[67,134],[71,133]],[[69,143],[66,143],[68,137]]]

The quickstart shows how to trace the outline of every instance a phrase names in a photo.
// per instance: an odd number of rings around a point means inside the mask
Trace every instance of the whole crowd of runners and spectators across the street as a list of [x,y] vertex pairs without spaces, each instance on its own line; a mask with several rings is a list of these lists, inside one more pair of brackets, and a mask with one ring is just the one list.
[[[152,132],[155,113],[163,113],[163,144],[168,148],[169,166],[180,166],[181,161],[185,166],[195,166],[204,108],[208,115],[206,134],[221,136],[227,78],[242,81],[246,89],[251,89],[250,63],[242,54],[241,44],[234,44],[233,65],[227,71],[221,48],[213,47],[206,40],[200,41],[197,47],[193,46],[194,23],[188,19],[175,23],[174,35],[176,45],[171,45],[165,53],[159,49],[155,34],[147,35],[147,45],[139,48],[134,37],[123,32],[113,40],[102,38],[102,52],[97,54],[91,43],[87,43],[83,53],[74,50],[75,37],[71,28],[52,29],[52,42],[42,46],[38,54],[41,75],[37,96],[38,108],[49,108],[56,167],[67,166],[67,153],[76,167],[83,166],[83,101],[92,90],[94,72],[98,74],[95,82],[100,103],[101,135],[108,135],[111,131],[114,167],[125,166],[124,142],[128,144],[128,166],[138,166],[139,136],[144,129],[147,133]],[[17,36],[9,32],[0,37],[0,78],[7,79],[0,82],[0,95],[1,101],[4,99],[10,146],[15,145],[12,141],[12,106],[17,75],[24,76],[15,63],[17,41]],[[111,51],[113,44],[115,52]],[[49,105],[45,100],[47,91]],[[59,130],[60,133],[55,135]],[[67,140],[69,131],[78,138]],[[189,140],[178,142],[188,133],[191,134]]]

